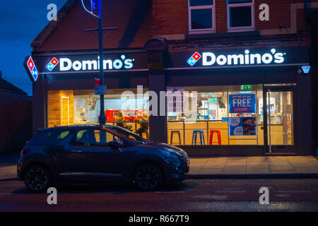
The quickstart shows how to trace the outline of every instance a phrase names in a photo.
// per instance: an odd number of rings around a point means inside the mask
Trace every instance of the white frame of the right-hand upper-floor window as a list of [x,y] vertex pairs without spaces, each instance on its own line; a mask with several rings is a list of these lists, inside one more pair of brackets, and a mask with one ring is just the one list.
[[[251,10],[251,26],[246,26],[246,27],[230,27],[230,8],[231,7],[246,7],[250,6],[252,8]],[[232,3],[229,4],[228,0],[226,1],[226,18],[227,18],[227,28],[228,32],[245,32],[245,31],[254,31],[255,30],[255,5],[254,5],[254,0],[252,2],[243,2],[243,3]]]

